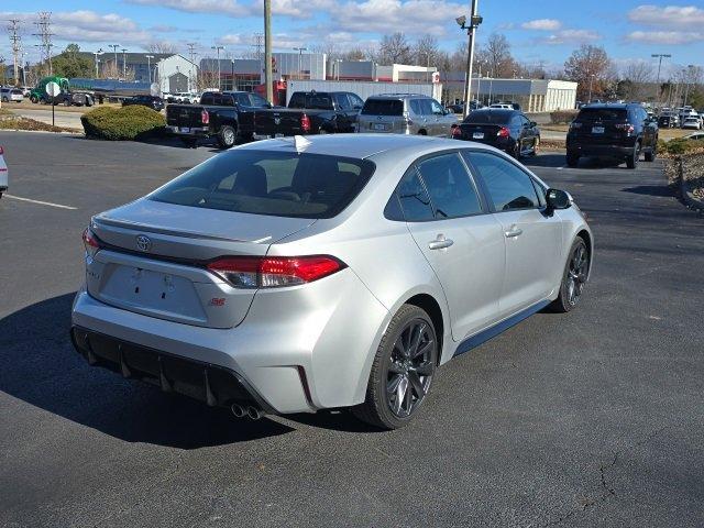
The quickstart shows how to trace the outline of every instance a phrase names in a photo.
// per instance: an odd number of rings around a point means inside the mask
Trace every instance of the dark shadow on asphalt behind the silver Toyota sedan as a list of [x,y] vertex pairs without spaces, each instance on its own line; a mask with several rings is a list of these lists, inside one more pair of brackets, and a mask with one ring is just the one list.
[[0,320],[0,392],[128,442],[198,449],[294,430],[266,418],[238,420],[224,408],[88,366],[68,337],[73,298],[46,299]]

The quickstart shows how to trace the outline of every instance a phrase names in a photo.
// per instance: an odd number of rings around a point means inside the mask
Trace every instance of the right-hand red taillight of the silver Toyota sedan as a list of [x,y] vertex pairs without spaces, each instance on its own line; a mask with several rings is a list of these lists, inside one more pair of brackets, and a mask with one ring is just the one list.
[[311,283],[343,270],[333,256],[226,256],[208,264],[238,288],[275,288]]

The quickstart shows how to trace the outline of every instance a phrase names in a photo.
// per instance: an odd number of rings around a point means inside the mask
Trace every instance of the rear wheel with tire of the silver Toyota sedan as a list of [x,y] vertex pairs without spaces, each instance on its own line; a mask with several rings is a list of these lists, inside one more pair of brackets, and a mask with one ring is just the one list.
[[366,398],[352,408],[354,416],[381,429],[407,425],[426,399],[438,353],[428,314],[414,305],[402,306],[376,350]]

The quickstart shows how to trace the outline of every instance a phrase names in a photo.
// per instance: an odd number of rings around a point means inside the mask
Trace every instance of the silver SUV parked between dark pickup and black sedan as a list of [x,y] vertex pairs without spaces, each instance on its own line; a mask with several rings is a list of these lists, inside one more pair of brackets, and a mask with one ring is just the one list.
[[450,138],[454,113],[431,97],[386,94],[366,99],[359,118],[359,132],[420,134]]

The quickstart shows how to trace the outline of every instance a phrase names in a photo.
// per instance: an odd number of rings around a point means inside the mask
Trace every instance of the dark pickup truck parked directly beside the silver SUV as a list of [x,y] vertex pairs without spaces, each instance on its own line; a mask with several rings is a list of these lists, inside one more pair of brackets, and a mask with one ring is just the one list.
[[288,108],[254,112],[254,133],[265,136],[356,132],[364,101],[349,91],[296,91]]

